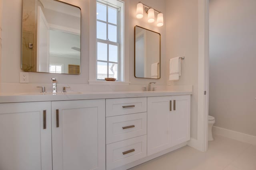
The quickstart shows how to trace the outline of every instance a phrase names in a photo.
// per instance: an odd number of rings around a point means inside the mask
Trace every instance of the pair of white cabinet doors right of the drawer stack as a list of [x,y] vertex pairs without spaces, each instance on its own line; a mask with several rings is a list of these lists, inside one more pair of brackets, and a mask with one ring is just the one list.
[[190,95],[148,97],[147,155],[190,140]]

